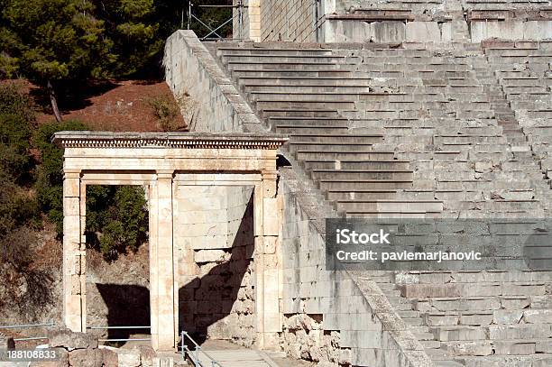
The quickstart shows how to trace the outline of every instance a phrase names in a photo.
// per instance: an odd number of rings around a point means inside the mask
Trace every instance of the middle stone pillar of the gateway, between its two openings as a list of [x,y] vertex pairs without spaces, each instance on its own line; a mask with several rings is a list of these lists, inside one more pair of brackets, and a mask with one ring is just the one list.
[[178,333],[175,306],[174,254],[172,248],[172,174],[157,171],[150,188],[150,309],[152,347],[174,352]]

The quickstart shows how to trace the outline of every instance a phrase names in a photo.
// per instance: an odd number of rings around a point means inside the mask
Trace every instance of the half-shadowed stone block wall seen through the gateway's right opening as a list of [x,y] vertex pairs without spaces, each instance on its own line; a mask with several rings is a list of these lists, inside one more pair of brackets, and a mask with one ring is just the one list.
[[253,188],[176,195],[180,329],[253,344]]

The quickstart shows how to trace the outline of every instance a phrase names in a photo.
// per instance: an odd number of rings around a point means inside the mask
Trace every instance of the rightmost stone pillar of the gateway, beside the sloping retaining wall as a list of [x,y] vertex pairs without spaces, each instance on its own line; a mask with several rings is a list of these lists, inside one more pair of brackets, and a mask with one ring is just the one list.
[[281,332],[276,178],[276,171],[262,172],[262,182],[255,186],[253,203],[256,343],[262,349],[277,347],[277,333]]

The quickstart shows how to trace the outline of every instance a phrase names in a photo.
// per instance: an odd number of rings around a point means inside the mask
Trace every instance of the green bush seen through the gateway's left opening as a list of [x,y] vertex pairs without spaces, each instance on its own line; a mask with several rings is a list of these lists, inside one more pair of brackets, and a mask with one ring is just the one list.
[[143,188],[87,188],[87,237],[106,260],[114,260],[119,253],[127,250],[136,251],[145,241],[147,229]]

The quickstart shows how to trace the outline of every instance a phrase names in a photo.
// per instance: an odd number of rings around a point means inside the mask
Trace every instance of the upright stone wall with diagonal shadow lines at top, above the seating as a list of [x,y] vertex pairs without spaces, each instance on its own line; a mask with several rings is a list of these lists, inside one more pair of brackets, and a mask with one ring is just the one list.
[[315,41],[312,0],[262,0],[261,41]]

